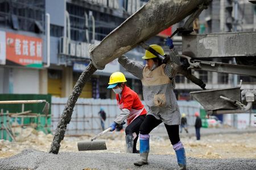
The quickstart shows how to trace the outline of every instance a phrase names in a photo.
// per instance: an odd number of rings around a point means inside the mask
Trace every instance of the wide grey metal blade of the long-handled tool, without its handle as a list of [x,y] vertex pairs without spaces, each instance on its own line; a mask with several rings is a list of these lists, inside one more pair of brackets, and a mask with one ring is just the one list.
[[77,142],[79,151],[93,151],[93,150],[106,150],[106,143],[104,140],[96,141],[80,141]]

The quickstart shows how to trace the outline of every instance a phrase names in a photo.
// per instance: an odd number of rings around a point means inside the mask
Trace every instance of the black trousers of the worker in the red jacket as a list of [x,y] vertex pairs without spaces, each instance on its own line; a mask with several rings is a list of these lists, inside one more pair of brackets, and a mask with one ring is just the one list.
[[141,124],[142,124],[142,122],[144,121],[145,118],[146,118],[146,114],[140,115],[139,117],[134,119],[134,121],[131,122],[130,125],[128,125],[125,128],[125,134],[126,135],[133,135],[134,132],[137,134],[137,137],[133,140],[133,152],[135,152],[137,150],[136,149],[136,144],[137,144],[137,140],[138,140],[138,137],[139,137],[139,127],[141,126]]

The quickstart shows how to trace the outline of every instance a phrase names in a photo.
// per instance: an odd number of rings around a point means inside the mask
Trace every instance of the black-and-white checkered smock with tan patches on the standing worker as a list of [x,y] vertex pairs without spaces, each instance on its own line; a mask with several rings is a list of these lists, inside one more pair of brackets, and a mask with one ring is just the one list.
[[148,65],[141,65],[128,59],[125,55],[119,57],[118,62],[126,71],[142,81],[143,97],[148,106],[148,113],[167,125],[180,125],[181,116],[174,94],[175,66],[180,65],[177,51],[170,50],[171,61],[162,64],[153,71]]

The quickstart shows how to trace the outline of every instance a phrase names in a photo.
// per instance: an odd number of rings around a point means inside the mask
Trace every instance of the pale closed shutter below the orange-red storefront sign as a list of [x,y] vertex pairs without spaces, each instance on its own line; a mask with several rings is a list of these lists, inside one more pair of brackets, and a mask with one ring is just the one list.
[[28,68],[14,68],[13,93],[39,94],[39,70]]

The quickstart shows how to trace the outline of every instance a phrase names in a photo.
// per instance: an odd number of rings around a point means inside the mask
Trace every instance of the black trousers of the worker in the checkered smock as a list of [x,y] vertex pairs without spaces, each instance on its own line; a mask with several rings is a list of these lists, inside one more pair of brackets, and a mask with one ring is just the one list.
[[[162,121],[156,119],[153,115],[147,115],[144,119],[139,132],[142,135],[149,134],[156,126],[158,126]],[[169,139],[171,140],[172,145],[178,143],[180,141],[179,136],[179,125],[166,125],[166,130],[168,132]]]

